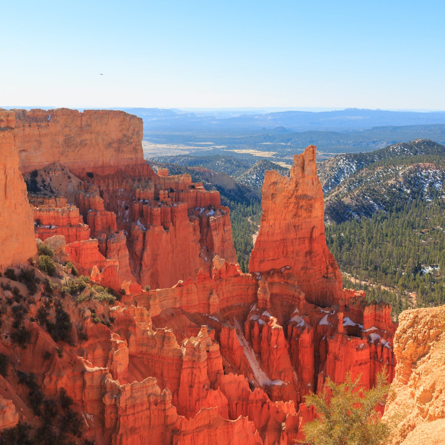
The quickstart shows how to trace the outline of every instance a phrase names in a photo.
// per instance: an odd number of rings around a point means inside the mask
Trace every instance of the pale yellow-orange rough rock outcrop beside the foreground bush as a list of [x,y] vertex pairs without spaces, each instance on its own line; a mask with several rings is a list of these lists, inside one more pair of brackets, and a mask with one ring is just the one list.
[[394,336],[396,375],[384,420],[393,444],[436,445],[445,437],[445,306],[404,311]]

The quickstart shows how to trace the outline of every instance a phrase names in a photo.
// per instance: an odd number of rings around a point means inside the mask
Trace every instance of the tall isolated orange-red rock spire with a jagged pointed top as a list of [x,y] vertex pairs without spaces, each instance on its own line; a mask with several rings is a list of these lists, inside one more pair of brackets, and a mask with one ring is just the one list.
[[290,267],[311,303],[338,302],[342,278],[324,236],[323,190],[316,147],[294,155],[290,177],[265,172],[263,215],[249,271]]

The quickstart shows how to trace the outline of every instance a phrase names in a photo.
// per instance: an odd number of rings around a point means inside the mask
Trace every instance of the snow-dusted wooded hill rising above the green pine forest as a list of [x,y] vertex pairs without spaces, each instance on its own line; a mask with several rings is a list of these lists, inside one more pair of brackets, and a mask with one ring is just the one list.
[[432,201],[445,182],[445,146],[429,140],[398,143],[372,153],[320,163],[325,218],[337,223],[402,211],[413,200]]

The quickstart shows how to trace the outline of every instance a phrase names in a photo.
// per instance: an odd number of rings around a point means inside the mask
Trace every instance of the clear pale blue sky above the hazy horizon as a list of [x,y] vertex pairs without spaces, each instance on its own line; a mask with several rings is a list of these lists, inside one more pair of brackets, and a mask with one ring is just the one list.
[[445,109],[443,1],[33,0],[0,14],[0,106]]

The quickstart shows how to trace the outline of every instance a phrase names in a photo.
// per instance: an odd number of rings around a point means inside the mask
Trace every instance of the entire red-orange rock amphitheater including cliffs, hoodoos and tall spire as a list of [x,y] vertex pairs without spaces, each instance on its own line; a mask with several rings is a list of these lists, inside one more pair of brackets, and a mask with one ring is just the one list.
[[[54,297],[70,316],[69,342],[36,321],[49,307],[44,287],[29,296],[28,347],[18,352],[1,336],[9,368],[0,428],[39,422],[16,370],[34,372],[49,398],[65,388],[97,445],[304,442],[301,426],[314,416],[304,397],[328,376],[342,382],[351,371],[369,388],[387,366],[392,380],[391,308],[342,289],[315,146],[295,155],[290,177],[267,172],[245,274],[219,193],[187,174],[155,174],[143,159],[141,119],[0,110],[0,127],[0,270],[29,264],[36,238],[63,235],[81,274],[123,294],[112,305]],[[28,196],[22,174],[36,187]],[[73,278],[58,271],[54,283]],[[9,294],[0,289],[3,301]],[[5,306],[2,332],[13,329],[15,305]],[[98,323],[97,314],[113,321]]]

